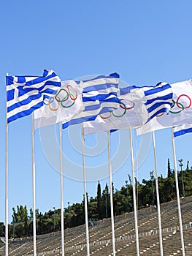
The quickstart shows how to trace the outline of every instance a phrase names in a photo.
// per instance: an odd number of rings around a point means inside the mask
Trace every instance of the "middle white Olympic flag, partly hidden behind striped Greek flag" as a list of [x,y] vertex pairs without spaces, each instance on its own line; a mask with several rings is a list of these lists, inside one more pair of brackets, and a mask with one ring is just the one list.
[[120,89],[120,94],[123,94],[123,91],[128,93],[119,97],[120,104],[117,110],[99,115],[96,120],[86,121],[83,124],[84,135],[111,129],[136,128],[146,123],[149,114],[145,107],[147,102],[145,94],[141,89],[129,89],[129,87]]

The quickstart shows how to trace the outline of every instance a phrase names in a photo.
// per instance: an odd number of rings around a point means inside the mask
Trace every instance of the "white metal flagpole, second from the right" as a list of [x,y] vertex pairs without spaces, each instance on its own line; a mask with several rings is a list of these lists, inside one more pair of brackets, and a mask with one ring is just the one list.
[[155,150],[155,132],[153,131],[153,154],[155,159],[155,184],[156,184],[156,196],[157,196],[157,209],[158,209],[158,236],[160,244],[160,255],[164,256],[163,250],[163,241],[162,241],[162,230],[161,230],[161,209],[160,209],[160,200],[158,193],[158,171],[157,171],[157,162],[156,162],[156,150]]

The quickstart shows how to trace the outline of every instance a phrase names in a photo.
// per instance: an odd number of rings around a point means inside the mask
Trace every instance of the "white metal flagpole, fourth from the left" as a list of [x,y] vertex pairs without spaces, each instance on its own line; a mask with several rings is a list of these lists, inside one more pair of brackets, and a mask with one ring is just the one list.
[[85,146],[84,146],[84,132],[82,127],[82,168],[83,168],[83,185],[84,185],[84,200],[85,200],[85,226],[86,226],[86,239],[87,239],[87,256],[90,255],[89,250],[89,235],[88,235],[88,202],[87,202],[87,188],[85,176]]

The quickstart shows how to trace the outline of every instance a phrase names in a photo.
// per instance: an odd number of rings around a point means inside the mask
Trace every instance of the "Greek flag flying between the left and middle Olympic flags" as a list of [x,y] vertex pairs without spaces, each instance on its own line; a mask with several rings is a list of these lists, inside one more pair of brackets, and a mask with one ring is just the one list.
[[110,112],[118,108],[119,75],[117,73],[95,76],[86,80],[76,80],[82,83],[82,104],[84,110],[72,120],[63,123],[63,129],[72,124],[95,120],[101,113]]

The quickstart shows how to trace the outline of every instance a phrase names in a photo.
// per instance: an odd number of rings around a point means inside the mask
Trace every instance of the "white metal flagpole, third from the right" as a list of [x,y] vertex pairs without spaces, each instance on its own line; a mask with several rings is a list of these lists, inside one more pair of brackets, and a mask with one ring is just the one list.
[[134,226],[135,226],[137,256],[139,256],[139,233],[138,233],[138,225],[137,225],[137,202],[136,202],[135,177],[134,177],[134,153],[133,153],[131,129],[129,129],[129,135],[130,135],[130,146],[131,146],[131,170],[132,170],[133,197],[134,197]]

